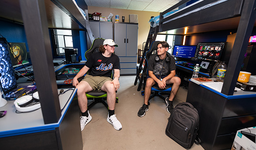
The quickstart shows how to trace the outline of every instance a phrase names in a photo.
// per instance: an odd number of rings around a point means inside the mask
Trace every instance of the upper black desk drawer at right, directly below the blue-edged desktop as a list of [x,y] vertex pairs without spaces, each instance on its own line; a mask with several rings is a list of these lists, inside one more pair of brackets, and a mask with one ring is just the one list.
[[223,118],[256,114],[256,98],[241,98],[227,100]]

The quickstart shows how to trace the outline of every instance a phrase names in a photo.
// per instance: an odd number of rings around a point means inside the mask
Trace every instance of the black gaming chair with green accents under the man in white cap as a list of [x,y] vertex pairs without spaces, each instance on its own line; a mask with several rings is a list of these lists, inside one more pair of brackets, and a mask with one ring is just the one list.
[[[99,47],[100,47],[100,45],[103,45],[104,40],[105,39],[103,39],[103,38],[96,38],[93,41],[91,48],[85,52],[85,58],[86,59],[89,58],[92,53],[99,52]],[[88,71],[87,74],[90,75],[90,70]],[[105,105],[105,107],[107,109],[109,109],[108,104],[106,102],[107,92],[95,90],[95,91],[87,92],[86,96],[87,96],[88,100],[90,100],[90,99],[93,100],[93,102],[88,105],[88,107],[87,107],[88,110],[90,108],[92,108],[95,104],[98,104],[98,103],[102,103],[103,105]],[[116,103],[118,103],[118,98],[116,98]]]

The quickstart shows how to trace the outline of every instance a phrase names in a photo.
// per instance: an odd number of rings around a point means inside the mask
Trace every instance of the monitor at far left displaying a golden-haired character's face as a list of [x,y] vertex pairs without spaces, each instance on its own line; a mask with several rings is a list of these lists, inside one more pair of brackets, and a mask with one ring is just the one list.
[[10,43],[8,49],[11,56],[12,67],[29,64],[25,43]]

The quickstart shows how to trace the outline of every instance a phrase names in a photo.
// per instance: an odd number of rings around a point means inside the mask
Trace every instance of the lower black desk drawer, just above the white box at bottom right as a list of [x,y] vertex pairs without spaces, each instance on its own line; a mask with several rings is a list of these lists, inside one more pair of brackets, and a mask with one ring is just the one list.
[[245,127],[254,127],[256,123],[256,115],[252,116],[241,116],[241,117],[232,117],[224,118],[220,124],[218,135],[236,133],[237,130],[240,130]]

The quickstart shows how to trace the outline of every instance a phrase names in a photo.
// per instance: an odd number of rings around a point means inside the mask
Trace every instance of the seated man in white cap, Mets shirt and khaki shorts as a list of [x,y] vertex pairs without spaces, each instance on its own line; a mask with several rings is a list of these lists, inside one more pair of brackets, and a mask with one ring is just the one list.
[[[120,60],[117,55],[114,54],[115,47],[118,45],[112,39],[106,39],[103,45],[100,46],[98,53],[93,53],[88,58],[85,66],[78,72],[73,79],[73,86],[77,88],[78,104],[82,112],[80,116],[81,131],[90,122],[92,117],[87,110],[87,97],[86,92],[92,90],[103,90],[107,92],[107,103],[109,106],[109,112],[107,121],[113,125],[116,130],[121,130],[122,125],[117,120],[116,114],[114,114],[116,103],[116,90],[119,89],[119,77],[120,77]],[[91,75],[85,75],[91,68]],[[111,79],[111,74],[114,69],[114,79]],[[77,79],[84,78],[81,82]]]

